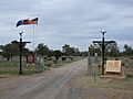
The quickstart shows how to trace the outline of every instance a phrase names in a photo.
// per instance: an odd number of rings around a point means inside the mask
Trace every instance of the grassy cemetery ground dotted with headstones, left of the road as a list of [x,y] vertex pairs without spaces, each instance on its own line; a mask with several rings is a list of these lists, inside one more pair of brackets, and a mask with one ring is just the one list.
[[[63,56],[55,59],[54,56],[41,57],[38,55],[35,58],[33,56],[22,56],[22,73],[23,75],[32,75],[39,72],[43,72],[50,68],[57,68],[60,66],[64,66],[65,64],[72,63],[74,61],[79,61],[82,57],[72,57],[72,56]],[[35,63],[34,63],[35,61]],[[9,61],[2,56],[0,56],[0,77],[1,75],[18,75],[19,74],[19,56],[13,56],[9,58]]]

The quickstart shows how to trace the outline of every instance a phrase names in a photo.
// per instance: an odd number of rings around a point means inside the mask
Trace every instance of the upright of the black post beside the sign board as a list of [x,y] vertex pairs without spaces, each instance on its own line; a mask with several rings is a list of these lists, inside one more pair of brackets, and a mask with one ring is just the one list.
[[101,33],[103,34],[103,37],[102,37],[102,75],[104,75],[104,56],[105,56],[105,40],[104,40],[104,34],[106,33],[105,32],[102,32]]

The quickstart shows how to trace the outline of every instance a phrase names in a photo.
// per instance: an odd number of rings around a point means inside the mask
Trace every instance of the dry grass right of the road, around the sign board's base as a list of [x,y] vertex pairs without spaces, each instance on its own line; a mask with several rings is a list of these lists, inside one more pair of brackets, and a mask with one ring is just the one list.
[[[92,74],[86,75],[86,68],[80,75],[78,75],[73,84],[80,88],[100,87],[100,88],[119,88],[124,90],[133,91],[133,61],[124,61],[125,64],[125,76],[126,78],[101,78],[101,69],[98,68],[98,64],[94,58],[92,59]],[[95,76],[94,76],[95,75]]]

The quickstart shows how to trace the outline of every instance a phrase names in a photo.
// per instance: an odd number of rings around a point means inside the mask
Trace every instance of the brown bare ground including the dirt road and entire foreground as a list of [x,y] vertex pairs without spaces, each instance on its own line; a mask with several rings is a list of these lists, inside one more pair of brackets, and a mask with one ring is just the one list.
[[76,84],[86,64],[81,59],[33,76],[0,78],[0,99],[133,99],[127,89]]

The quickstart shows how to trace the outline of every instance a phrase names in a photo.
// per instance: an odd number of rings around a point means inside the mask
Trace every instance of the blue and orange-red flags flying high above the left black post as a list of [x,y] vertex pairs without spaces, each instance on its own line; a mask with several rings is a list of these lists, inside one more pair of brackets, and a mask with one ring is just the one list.
[[32,20],[29,20],[29,19],[20,20],[20,21],[18,21],[18,23],[17,23],[17,28],[18,28],[19,25],[38,24],[38,19],[39,19],[39,18],[32,19]]

